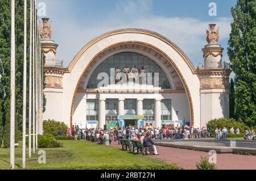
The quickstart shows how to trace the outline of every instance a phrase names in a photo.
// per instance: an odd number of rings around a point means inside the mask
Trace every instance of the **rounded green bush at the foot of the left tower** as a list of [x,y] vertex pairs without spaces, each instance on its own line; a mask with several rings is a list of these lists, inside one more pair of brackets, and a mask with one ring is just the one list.
[[58,136],[58,131],[61,130],[65,136],[68,132],[68,126],[65,123],[61,123],[55,120],[44,121],[43,123],[44,132],[50,133],[53,136]]

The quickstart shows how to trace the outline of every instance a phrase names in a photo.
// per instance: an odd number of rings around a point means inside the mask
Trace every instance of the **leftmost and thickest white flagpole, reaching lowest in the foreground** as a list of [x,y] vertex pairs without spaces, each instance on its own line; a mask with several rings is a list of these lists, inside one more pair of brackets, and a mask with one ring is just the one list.
[[15,142],[15,0],[11,0],[11,117],[10,117],[10,169],[14,169]]

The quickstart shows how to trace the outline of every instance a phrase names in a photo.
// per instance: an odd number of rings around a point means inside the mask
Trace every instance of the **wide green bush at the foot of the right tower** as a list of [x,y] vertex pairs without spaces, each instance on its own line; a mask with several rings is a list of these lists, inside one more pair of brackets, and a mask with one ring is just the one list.
[[249,130],[250,128],[247,127],[244,123],[238,122],[234,119],[226,119],[226,118],[220,118],[220,119],[214,119],[210,120],[207,123],[207,128],[210,129],[210,136],[215,136],[215,129],[228,129],[228,131],[233,127],[234,131],[236,132],[236,129],[239,128],[241,133],[245,133],[246,129]]

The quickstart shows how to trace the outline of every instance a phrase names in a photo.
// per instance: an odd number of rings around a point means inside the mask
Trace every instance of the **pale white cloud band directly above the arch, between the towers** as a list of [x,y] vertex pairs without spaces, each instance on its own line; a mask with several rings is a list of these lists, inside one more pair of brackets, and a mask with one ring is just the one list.
[[[65,19],[67,21],[67,19]],[[218,19],[217,26],[220,26],[220,39],[228,39],[230,32],[230,19]],[[59,22],[65,23],[65,22]],[[59,24],[57,23],[57,24]],[[138,19],[133,22],[122,21],[114,25],[111,21],[99,23],[98,26],[81,28],[77,24],[69,24],[65,28],[55,24],[56,43],[59,44],[58,54],[65,65],[68,65],[75,57],[76,53],[94,37],[100,36],[104,32],[117,30],[121,28],[143,28],[151,30],[166,36],[177,44],[194,64],[203,61],[201,48],[207,43],[205,29],[209,22],[202,22],[191,18],[166,18],[154,16],[150,19]],[[72,33],[71,33],[72,32]],[[226,57],[226,56],[224,56]],[[196,60],[195,60],[196,58]],[[197,60],[198,59],[198,60]]]

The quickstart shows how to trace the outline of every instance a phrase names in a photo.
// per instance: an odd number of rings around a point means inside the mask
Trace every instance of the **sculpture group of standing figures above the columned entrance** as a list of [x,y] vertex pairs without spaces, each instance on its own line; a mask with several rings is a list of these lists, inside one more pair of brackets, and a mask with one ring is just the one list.
[[119,67],[115,69],[115,83],[117,84],[126,82],[146,84],[146,78],[147,73],[143,66],[141,70],[138,70],[136,65],[132,69],[128,68],[127,65],[122,70]]

